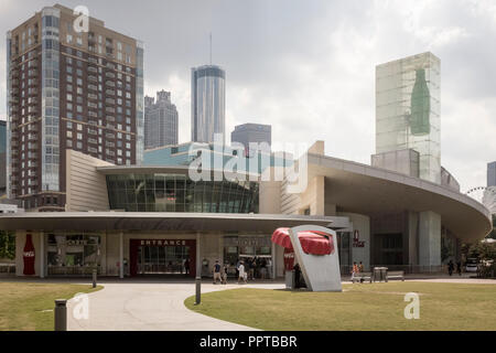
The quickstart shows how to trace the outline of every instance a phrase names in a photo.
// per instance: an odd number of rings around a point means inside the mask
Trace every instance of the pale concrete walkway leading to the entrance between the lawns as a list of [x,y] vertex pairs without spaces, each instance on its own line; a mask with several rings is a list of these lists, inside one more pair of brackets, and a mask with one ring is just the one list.
[[[254,331],[255,329],[195,313],[184,300],[195,292],[190,284],[103,282],[89,295],[89,320],[76,320],[77,304],[69,300],[69,331]],[[283,288],[282,284],[248,285],[242,288]],[[237,285],[203,284],[202,292],[241,288]]]

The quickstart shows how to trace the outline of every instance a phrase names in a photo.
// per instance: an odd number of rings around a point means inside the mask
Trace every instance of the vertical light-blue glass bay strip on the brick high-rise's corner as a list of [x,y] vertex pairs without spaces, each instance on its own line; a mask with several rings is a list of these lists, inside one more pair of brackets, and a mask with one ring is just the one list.
[[42,20],[42,190],[60,191],[60,29],[57,9],[44,9]]

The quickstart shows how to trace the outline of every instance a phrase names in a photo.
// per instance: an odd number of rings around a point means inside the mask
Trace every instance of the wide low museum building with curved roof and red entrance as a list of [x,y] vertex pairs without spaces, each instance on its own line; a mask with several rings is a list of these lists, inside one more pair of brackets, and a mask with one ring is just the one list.
[[492,229],[489,211],[449,185],[327,157],[322,141],[304,160],[306,185],[289,193],[288,179],[265,178],[279,167],[195,182],[185,165],[116,167],[66,150],[66,212],[0,215],[0,228],[15,232],[17,275],[42,278],[209,276],[216,260],[234,275],[254,257],[282,277],[270,237],[309,224],[337,232],[343,274],[354,261],[438,271]]

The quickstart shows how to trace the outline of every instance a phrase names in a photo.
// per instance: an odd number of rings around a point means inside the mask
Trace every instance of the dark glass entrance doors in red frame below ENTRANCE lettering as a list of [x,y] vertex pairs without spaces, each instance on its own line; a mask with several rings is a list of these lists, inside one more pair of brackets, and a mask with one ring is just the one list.
[[183,275],[186,259],[190,259],[188,246],[140,246],[138,275]]

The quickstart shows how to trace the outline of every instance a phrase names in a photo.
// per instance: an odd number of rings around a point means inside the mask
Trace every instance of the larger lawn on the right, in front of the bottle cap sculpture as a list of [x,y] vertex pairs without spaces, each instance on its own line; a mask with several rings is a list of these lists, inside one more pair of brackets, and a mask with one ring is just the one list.
[[[268,331],[496,330],[496,285],[345,285],[342,293],[234,289],[185,304],[220,320]],[[420,319],[407,320],[407,292],[420,293]]]

